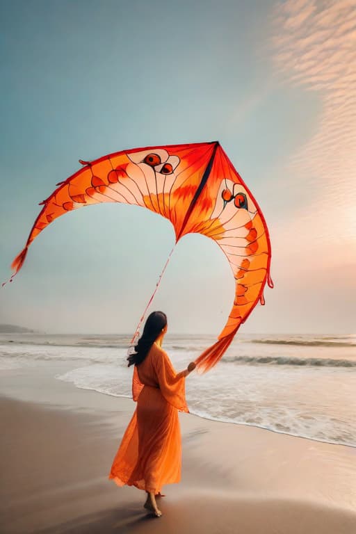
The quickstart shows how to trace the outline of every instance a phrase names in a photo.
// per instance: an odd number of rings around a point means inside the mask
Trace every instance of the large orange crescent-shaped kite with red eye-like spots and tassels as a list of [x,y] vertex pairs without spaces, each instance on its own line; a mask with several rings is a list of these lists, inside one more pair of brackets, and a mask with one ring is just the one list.
[[[99,202],[122,202],[159,213],[172,223],[176,244],[191,233],[213,239],[234,274],[234,303],[227,323],[218,341],[196,360],[198,369],[208,371],[257,303],[264,305],[266,283],[273,287],[268,228],[254,197],[218,141],[134,148],[79,163],[83,167],[56,184],[58,188],[40,202],[42,211],[24,250],[13,261],[10,280],[24,264],[33,239],[69,211]],[[168,261],[169,257],[161,276]]]

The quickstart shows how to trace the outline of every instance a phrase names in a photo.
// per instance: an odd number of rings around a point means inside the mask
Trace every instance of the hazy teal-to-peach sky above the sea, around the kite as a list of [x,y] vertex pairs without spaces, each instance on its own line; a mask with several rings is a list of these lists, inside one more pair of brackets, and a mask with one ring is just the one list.
[[[79,159],[219,140],[264,213],[274,289],[246,333],[356,325],[355,0],[0,1],[0,280]],[[0,323],[130,333],[172,246],[124,204],[68,213],[0,291]],[[223,252],[190,234],[151,311],[218,335],[234,300]]]

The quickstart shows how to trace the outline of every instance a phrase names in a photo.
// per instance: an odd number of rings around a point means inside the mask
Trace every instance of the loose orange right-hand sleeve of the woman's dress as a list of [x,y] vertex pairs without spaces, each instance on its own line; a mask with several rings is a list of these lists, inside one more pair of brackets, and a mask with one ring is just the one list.
[[188,413],[185,380],[187,371],[176,373],[168,355],[161,348],[154,351],[152,364],[159,382],[159,389],[165,400],[177,410]]

